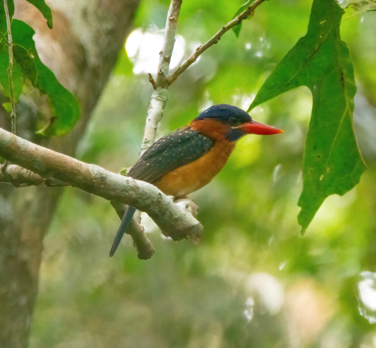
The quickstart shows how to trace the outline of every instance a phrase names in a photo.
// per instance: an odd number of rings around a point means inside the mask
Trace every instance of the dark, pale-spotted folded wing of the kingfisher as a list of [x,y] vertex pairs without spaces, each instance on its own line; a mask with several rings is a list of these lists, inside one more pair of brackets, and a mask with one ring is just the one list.
[[156,184],[172,170],[205,155],[214,141],[185,126],[157,140],[130,169],[129,176]]

